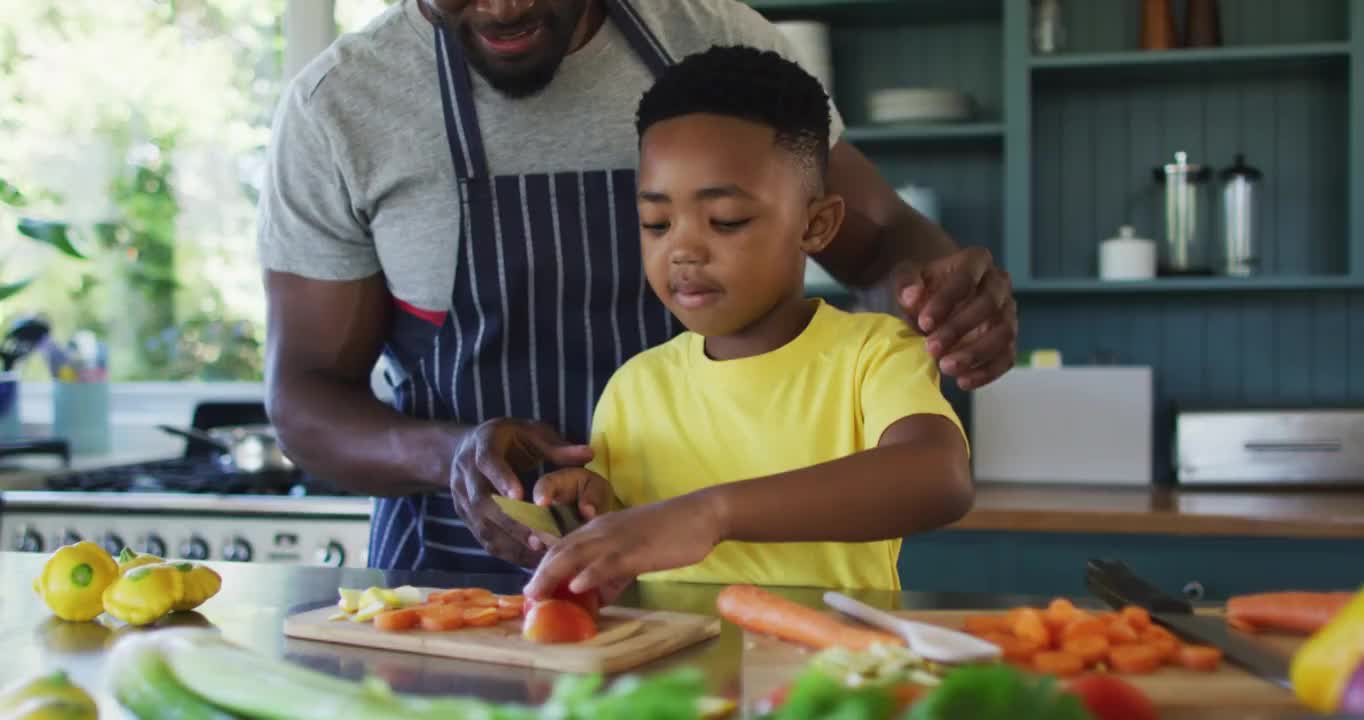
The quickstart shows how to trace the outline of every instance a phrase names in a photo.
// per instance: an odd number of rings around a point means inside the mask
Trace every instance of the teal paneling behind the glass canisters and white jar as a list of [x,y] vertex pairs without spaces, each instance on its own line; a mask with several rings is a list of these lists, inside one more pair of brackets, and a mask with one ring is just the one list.
[[[1230,78],[1146,68],[1127,83],[1102,74],[1037,76],[1034,277],[1094,277],[1098,244],[1124,224],[1159,240],[1153,169],[1178,150],[1218,172],[1244,151],[1264,172],[1256,221],[1266,274],[1348,273],[1346,70],[1338,61]],[[1200,220],[1215,251],[1215,180],[1204,196]]]

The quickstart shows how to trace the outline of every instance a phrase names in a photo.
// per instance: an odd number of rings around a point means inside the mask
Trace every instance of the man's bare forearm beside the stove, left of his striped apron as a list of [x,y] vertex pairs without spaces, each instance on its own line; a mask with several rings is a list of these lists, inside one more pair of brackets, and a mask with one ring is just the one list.
[[466,427],[406,417],[368,386],[296,371],[271,378],[270,420],[289,457],[310,473],[366,495],[449,487]]

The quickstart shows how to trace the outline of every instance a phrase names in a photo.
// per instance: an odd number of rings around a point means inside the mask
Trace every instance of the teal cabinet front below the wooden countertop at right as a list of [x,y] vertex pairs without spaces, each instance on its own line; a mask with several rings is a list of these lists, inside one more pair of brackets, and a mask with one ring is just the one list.
[[1090,558],[1125,562],[1172,595],[1222,601],[1267,590],[1364,585],[1364,539],[938,530],[907,539],[907,590],[1086,596]]

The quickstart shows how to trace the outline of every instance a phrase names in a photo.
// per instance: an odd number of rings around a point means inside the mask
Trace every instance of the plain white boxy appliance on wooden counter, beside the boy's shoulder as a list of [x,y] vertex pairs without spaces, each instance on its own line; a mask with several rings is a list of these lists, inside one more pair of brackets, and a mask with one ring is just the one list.
[[1150,367],[1015,368],[971,394],[978,481],[1153,481]]

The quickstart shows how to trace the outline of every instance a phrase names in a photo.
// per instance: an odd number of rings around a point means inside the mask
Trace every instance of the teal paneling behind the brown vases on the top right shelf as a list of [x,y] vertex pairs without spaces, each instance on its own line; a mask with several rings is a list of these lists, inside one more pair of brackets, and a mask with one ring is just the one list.
[[[1019,0],[1023,1],[1023,0]],[[1349,0],[1222,0],[1224,45],[1344,41]],[[1026,4],[1026,3],[1024,3]],[[1176,26],[1184,27],[1185,1],[1176,0]],[[1068,52],[1140,49],[1139,0],[1063,3]]]

